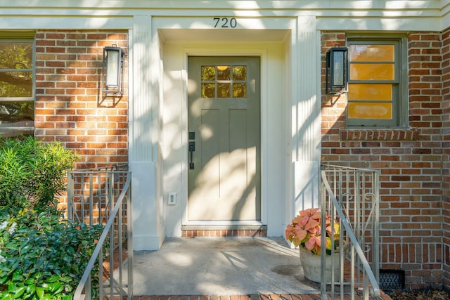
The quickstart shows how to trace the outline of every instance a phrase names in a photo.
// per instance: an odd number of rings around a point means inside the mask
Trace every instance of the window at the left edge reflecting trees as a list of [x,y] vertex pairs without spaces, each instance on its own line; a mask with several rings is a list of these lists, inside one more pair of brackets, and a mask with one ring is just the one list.
[[[0,136],[34,130],[34,40],[0,33]],[[19,37],[18,37],[19,36]]]

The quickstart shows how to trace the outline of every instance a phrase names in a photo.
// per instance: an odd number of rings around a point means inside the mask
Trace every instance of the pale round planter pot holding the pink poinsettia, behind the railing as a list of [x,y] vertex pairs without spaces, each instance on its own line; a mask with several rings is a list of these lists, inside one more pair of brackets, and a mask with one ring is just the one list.
[[[304,277],[314,282],[321,282],[321,256],[315,255],[302,247],[300,249],[300,262],[302,263]],[[333,264],[335,281],[339,280],[339,252],[333,254]],[[326,256],[326,282],[331,282],[332,260],[329,255]]]

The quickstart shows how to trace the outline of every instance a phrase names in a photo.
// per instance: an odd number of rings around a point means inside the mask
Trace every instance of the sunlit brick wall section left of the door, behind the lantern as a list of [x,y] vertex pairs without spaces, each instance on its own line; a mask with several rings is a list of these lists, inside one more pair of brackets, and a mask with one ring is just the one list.
[[75,150],[77,169],[128,161],[127,89],[122,97],[101,93],[103,47],[114,44],[128,53],[127,32],[36,34],[34,135]]

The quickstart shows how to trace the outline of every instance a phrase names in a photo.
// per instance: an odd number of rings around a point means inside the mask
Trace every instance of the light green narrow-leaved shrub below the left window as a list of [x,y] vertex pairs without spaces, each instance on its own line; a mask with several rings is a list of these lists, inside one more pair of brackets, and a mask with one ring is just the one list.
[[0,207],[56,211],[76,156],[59,143],[33,137],[0,139]]

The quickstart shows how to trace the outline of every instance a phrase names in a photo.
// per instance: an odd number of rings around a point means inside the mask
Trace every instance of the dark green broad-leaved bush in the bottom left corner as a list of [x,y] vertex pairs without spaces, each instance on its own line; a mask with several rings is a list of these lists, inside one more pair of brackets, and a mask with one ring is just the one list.
[[48,211],[1,215],[0,300],[72,299],[101,230]]

